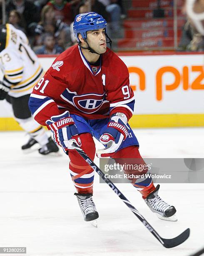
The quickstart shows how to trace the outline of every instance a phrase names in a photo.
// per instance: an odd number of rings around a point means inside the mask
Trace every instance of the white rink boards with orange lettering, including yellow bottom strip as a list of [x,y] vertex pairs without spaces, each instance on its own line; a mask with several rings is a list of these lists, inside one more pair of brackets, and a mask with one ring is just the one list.
[[[55,57],[40,56],[44,70]],[[127,65],[135,94],[132,127],[204,125],[204,54],[119,57]],[[0,102],[0,130],[16,129],[11,116]]]

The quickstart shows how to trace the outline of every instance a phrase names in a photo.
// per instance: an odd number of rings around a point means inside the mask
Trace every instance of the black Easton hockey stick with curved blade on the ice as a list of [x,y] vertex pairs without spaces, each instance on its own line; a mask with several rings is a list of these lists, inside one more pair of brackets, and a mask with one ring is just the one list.
[[143,225],[152,233],[152,235],[157,238],[157,240],[166,248],[172,248],[178,246],[179,244],[183,243],[187,240],[190,234],[190,229],[187,228],[183,233],[179,236],[171,239],[162,238],[159,236],[157,231],[152,228],[152,226],[145,220],[145,218],[138,212],[138,210],[127,200],[127,198],[119,191],[119,189],[107,178],[105,178],[105,174],[98,168],[98,166],[87,156],[87,154],[80,148],[74,141],[72,142],[72,146],[75,150],[82,156],[83,159],[94,169],[100,177],[106,182],[109,187],[119,196],[119,198],[129,207],[129,209],[134,213],[135,216],[143,223]]

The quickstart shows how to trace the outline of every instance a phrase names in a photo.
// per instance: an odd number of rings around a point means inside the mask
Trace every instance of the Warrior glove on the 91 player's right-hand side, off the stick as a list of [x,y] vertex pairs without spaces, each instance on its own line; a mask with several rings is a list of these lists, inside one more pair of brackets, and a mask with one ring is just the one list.
[[123,113],[112,115],[107,128],[100,136],[100,142],[106,146],[104,149],[97,150],[98,157],[111,157],[127,138],[129,128],[127,117]]

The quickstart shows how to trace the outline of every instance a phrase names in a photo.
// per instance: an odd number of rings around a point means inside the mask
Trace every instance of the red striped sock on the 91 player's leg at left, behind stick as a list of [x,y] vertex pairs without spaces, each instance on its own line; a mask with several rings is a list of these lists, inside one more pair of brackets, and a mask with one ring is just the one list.
[[[80,134],[82,141],[81,148],[85,153],[94,160],[95,143],[90,133]],[[70,157],[70,174],[78,193],[93,194],[93,182],[95,171],[76,151],[69,151]]]

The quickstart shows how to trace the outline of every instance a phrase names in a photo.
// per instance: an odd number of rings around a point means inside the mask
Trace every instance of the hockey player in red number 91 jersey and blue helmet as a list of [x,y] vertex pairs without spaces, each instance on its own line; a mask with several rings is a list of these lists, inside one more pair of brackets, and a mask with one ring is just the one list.
[[[77,189],[85,221],[98,218],[92,199],[94,171],[72,148],[72,139],[93,160],[97,138],[104,149],[98,157],[114,159],[142,157],[139,143],[127,123],[134,109],[134,94],[124,62],[107,48],[106,20],[97,13],[75,17],[78,46],[72,46],[55,59],[52,67],[34,87],[30,110],[37,122],[47,125],[54,140],[70,157],[70,174]],[[151,178],[137,180],[134,187],[149,208],[161,218],[176,212],[158,195]]]

